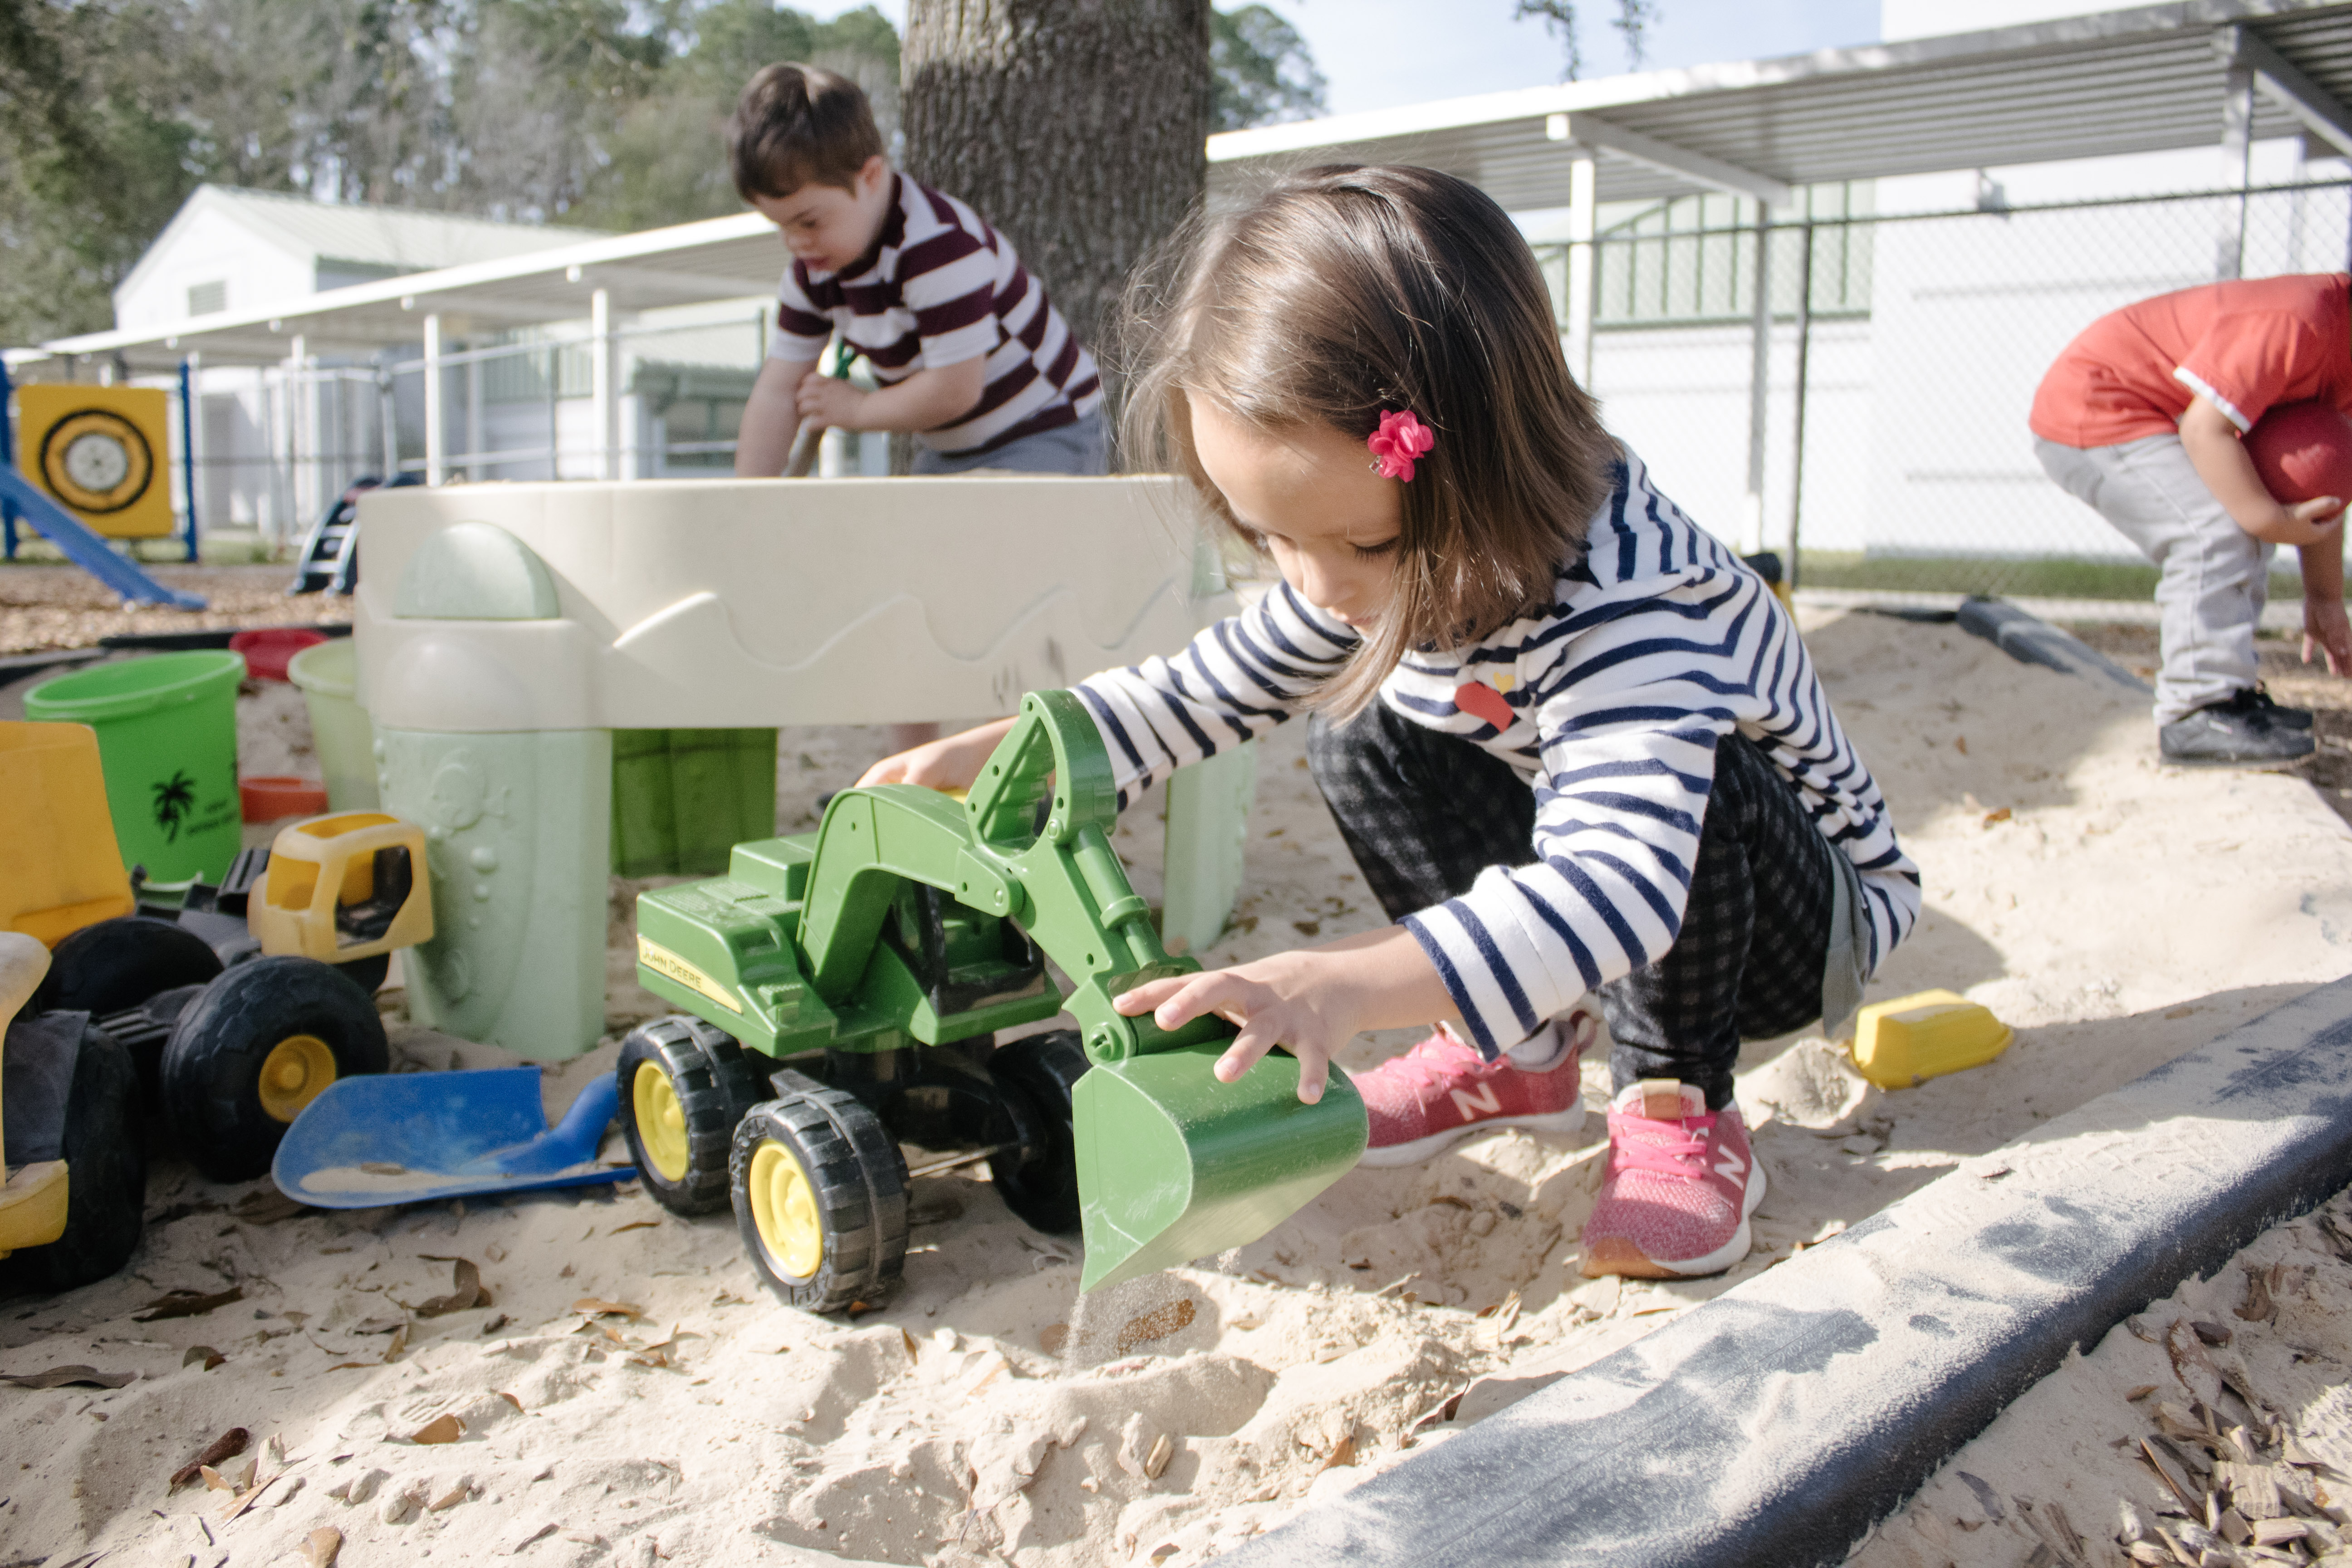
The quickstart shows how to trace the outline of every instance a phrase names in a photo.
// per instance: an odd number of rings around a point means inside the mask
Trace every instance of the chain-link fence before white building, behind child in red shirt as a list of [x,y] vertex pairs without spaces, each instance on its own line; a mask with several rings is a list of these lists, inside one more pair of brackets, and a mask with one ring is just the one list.
[[[1983,181],[1969,212],[1872,212],[1867,186],[1828,186],[1776,214],[1766,242],[1757,484],[1755,205],[1682,197],[1595,240],[1576,369],[1670,496],[1783,550],[1809,588],[2147,597],[2154,567],[2042,475],[2034,386],[2119,306],[2232,273],[2343,270],[2352,186],[2009,207]],[[1564,256],[1543,252],[1555,299]]]

